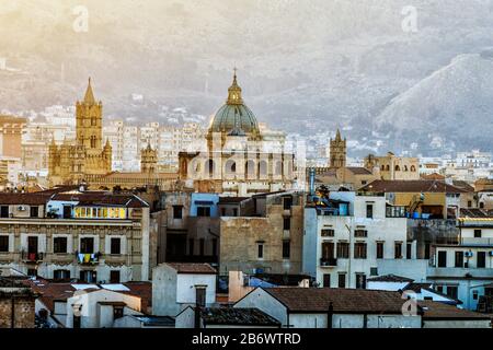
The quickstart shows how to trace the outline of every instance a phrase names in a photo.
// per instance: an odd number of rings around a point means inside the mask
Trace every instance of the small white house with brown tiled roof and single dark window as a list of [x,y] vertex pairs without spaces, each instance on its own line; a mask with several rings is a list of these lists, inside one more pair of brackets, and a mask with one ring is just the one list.
[[208,264],[161,264],[152,270],[152,314],[176,316],[216,302],[216,270]]

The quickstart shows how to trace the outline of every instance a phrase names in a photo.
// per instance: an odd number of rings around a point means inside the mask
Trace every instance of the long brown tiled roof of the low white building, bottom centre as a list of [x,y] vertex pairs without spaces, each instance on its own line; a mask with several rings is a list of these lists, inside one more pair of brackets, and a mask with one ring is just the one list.
[[293,313],[401,314],[405,300],[399,292],[337,288],[267,288],[264,291]]

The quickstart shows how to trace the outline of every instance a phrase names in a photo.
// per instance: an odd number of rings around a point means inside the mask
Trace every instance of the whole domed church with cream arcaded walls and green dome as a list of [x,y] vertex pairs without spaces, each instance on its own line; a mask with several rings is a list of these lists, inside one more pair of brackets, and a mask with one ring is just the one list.
[[180,179],[196,191],[226,196],[290,189],[294,154],[285,151],[284,136],[274,139],[262,135],[234,74],[226,104],[210,122],[206,150],[180,153]]

